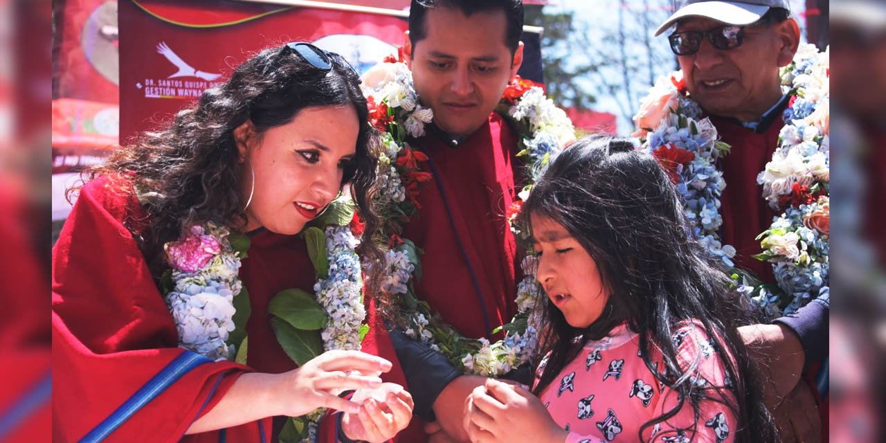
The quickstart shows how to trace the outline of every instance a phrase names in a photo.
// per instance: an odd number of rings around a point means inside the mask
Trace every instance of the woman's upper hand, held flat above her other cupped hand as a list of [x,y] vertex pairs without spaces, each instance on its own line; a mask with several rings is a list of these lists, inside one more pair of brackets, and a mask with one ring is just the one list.
[[280,411],[274,415],[303,416],[316,408],[356,414],[360,403],[339,398],[338,393],[381,386],[378,375],[391,366],[391,361],[359,351],[327,351],[299,369],[275,376],[270,392]]

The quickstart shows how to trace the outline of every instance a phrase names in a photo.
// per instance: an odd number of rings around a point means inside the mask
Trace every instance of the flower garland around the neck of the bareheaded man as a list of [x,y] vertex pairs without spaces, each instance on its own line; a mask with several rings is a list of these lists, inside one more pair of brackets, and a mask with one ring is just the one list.
[[[369,118],[381,131],[384,145],[378,165],[382,190],[377,206],[384,221],[377,241],[387,249],[382,289],[395,297],[398,323],[408,337],[447,355],[465,373],[501,376],[528,361],[538,344],[541,318],[534,309],[540,299],[534,282],[537,260],[527,253],[521,263],[525,278],[517,286],[518,314],[510,323],[494,330],[505,333],[505,338],[494,343],[486,338],[465,338],[439,315],[432,314],[427,302],[418,299],[413,282],[421,278],[419,256],[423,252],[399,233],[421,207],[417,199],[420,185],[432,178],[419,165],[427,156],[413,150],[407,138],[424,136],[424,125],[431,123],[433,113],[419,105],[412,73],[402,61],[401,53],[398,58],[385,58],[385,63],[364,75],[363,86]],[[575,139],[575,129],[566,113],[545,97],[543,89],[519,77],[505,89],[496,111],[517,128],[522,148],[517,156],[529,166],[530,183],[563,146]],[[531,188],[530,184],[521,190],[520,200],[506,211],[516,234],[519,232],[513,221]]]

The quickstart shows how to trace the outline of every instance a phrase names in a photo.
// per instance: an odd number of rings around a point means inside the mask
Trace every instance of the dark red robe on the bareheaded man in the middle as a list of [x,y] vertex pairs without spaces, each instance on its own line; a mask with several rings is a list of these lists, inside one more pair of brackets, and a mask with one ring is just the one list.
[[[418,197],[419,214],[403,232],[403,237],[424,249],[416,294],[465,336],[486,337],[484,304],[490,329],[508,323],[517,313],[514,298],[522,271],[516,263],[517,243],[504,215],[523,184],[520,171],[524,162],[516,157],[517,133],[492,113],[456,148],[433,134],[419,139],[414,147],[425,152],[436,167],[458,232],[456,238],[435,180],[424,183]],[[431,172],[428,162],[421,166],[424,172]],[[459,238],[478,279],[483,303]]]

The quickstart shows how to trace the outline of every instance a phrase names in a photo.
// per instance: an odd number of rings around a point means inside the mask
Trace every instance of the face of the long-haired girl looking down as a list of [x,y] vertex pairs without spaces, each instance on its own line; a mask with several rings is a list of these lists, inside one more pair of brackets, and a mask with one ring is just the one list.
[[537,215],[531,221],[539,257],[536,278],[566,322],[586,328],[600,317],[609,299],[594,259],[560,223]]

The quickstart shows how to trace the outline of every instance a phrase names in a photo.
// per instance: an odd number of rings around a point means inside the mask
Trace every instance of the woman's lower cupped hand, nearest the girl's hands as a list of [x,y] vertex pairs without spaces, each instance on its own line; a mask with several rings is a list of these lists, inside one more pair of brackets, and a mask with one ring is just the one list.
[[342,417],[342,431],[348,439],[383,442],[406,428],[412,418],[412,395],[396,383],[360,389],[351,401],[362,406],[356,414]]

